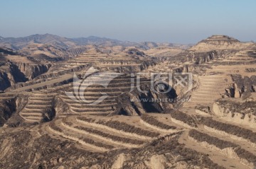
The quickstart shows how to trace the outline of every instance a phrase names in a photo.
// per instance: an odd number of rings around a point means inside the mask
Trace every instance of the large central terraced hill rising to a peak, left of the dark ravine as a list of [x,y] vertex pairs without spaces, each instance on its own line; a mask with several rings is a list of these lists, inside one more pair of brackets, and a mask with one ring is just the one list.
[[[46,74],[41,74],[31,81],[26,81],[26,83],[16,83],[6,89],[4,95],[16,93],[18,98],[24,97],[24,95],[28,98],[21,103],[21,108],[17,110],[18,115],[22,117],[21,122],[18,123],[40,123],[52,120],[54,116],[63,117],[70,114],[110,115],[113,113],[138,114],[140,111],[144,112],[144,105],[129,103],[130,108],[128,109],[130,110],[125,110],[127,108],[123,108],[123,104],[118,104],[118,100],[122,98],[122,95],[127,95],[133,88],[136,89],[137,86],[149,86],[149,79],[140,78],[140,81],[137,82],[136,76],[128,73],[135,74],[141,69],[146,69],[149,65],[156,64],[156,62],[149,58],[146,59],[146,56],[138,52],[137,49],[127,49],[119,55],[113,54],[114,56],[117,55],[118,58],[114,59],[115,57],[101,52],[97,47],[91,47],[92,49],[80,54],[75,59],[53,64]],[[85,73],[89,74],[90,69],[97,71],[97,74],[103,74],[103,76],[92,77],[91,80],[94,83],[90,86],[85,83],[75,86],[76,83],[73,83],[74,75],[82,77]],[[106,71],[107,74],[110,74],[110,83],[107,82]],[[112,79],[112,74],[118,76]],[[102,86],[105,83],[107,86]],[[87,103],[94,103],[102,94],[107,95],[107,98],[100,101],[100,104],[88,105],[84,101],[79,101],[78,93],[74,93],[74,90],[82,91],[82,99],[87,100]],[[81,95],[79,95],[80,97]],[[150,98],[151,96],[146,97]],[[126,100],[129,101],[129,98]],[[142,107],[141,110],[137,110],[137,106]],[[131,108],[133,112],[130,112]],[[162,108],[161,106],[159,110],[161,111]]]

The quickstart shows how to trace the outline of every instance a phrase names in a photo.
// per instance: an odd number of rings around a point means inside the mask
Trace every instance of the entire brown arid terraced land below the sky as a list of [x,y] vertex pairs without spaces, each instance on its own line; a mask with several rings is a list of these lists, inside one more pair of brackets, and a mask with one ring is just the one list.
[[253,169],[255,92],[256,44],[225,35],[0,37],[0,168]]

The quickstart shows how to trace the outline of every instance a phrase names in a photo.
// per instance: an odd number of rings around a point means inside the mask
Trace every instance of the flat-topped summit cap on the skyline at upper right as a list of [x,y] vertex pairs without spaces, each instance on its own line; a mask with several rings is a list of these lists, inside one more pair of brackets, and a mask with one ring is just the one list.
[[226,35],[212,35],[211,37],[208,37],[206,40],[202,40],[199,43],[202,42],[211,45],[231,45],[240,41]]

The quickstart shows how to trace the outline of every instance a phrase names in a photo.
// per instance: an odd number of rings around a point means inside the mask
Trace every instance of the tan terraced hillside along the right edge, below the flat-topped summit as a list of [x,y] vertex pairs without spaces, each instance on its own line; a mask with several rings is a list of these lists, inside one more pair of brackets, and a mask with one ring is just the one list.
[[[249,80],[248,83],[243,80],[254,79],[256,60],[253,51],[255,51],[254,46],[251,49],[238,49],[237,51],[234,49],[230,51],[215,50],[215,55],[210,54],[210,57],[208,57],[208,52],[188,52],[185,53],[188,57],[186,59],[178,58],[178,61],[165,61],[145,70],[145,72],[193,73],[195,87],[187,93],[190,99],[183,103],[183,107],[179,109],[181,112],[171,113],[171,120],[181,127],[186,127],[185,131],[189,131],[183,133],[179,139],[181,143],[196,151],[207,152],[212,156],[213,161],[218,161],[218,164],[225,168],[255,168],[256,151],[253,148],[255,141],[247,141],[245,138],[253,137],[255,134],[255,106],[250,105],[249,100],[255,100],[253,86],[256,81]],[[181,60],[185,65],[180,63]],[[235,78],[238,75],[242,78]],[[251,96],[248,94],[250,92],[252,92]],[[223,98],[226,101],[220,101]],[[228,103],[228,106],[224,103]],[[252,104],[255,104],[255,101]],[[212,119],[205,122],[202,121],[204,118]],[[214,129],[209,128],[208,125]],[[221,127],[223,132],[220,131],[221,129],[217,129],[219,126],[223,126]],[[232,133],[231,130],[234,132]],[[253,134],[234,136],[242,130],[244,133],[247,131]],[[225,144],[230,144],[230,146],[223,147]],[[238,161],[240,164],[237,163]],[[227,162],[233,165],[228,166],[225,164]]]

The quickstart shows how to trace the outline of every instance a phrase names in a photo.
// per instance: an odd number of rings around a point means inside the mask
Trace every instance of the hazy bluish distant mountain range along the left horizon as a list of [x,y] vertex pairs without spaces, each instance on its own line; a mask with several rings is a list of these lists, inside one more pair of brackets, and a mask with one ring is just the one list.
[[70,47],[75,47],[77,45],[99,45],[105,47],[112,46],[123,46],[123,47],[140,47],[142,49],[151,49],[159,46],[166,47],[175,47],[176,45],[171,43],[156,43],[156,42],[129,42],[129,41],[121,41],[114,40],[106,37],[78,37],[78,38],[67,38],[60,37],[58,35],[30,35],[27,37],[0,37],[0,47],[9,47],[11,49],[21,49],[26,47],[27,45],[31,45],[34,43],[38,44],[48,44],[54,45],[57,47],[62,47],[68,49]]

